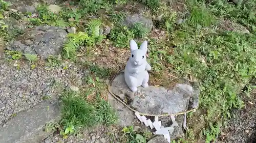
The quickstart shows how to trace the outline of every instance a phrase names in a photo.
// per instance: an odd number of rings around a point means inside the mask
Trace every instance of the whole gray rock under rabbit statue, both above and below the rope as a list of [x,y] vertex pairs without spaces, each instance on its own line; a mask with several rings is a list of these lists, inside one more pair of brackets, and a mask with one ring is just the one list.
[[[137,92],[132,92],[124,81],[124,74],[121,73],[112,81],[110,90],[112,93],[119,95],[123,101],[128,101],[130,107],[147,114],[178,113],[199,106],[199,88],[197,84],[193,83],[177,83],[173,90],[150,86],[148,88],[139,87]],[[134,112],[122,105],[111,95],[109,96],[109,101],[118,112],[120,118],[119,125],[133,125]],[[183,115],[176,116],[176,122],[179,127],[174,128],[170,138],[174,139],[184,135],[183,119]],[[159,121],[161,121],[164,127],[170,127],[173,124],[169,116],[160,117]]]

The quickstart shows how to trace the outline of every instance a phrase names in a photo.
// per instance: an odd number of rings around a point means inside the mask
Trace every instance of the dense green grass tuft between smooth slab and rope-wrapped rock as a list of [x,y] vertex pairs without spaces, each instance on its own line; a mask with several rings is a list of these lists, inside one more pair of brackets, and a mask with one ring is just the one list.
[[78,132],[84,127],[112,125],[117,121],[113,108],[102,99],[91,103],[73,91],[65,91],[62,94],[61,103],[60,125],[64,130],[71,128],[70,133]]

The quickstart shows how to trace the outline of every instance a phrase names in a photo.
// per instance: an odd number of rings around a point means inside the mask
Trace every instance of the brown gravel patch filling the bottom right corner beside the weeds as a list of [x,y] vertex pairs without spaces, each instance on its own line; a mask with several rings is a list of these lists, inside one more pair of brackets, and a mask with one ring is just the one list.
[[256,90],[251,98],[244,98],[245,108],[234,110],[232,118],[220,136],[219,143],[255,143],[256,142]]

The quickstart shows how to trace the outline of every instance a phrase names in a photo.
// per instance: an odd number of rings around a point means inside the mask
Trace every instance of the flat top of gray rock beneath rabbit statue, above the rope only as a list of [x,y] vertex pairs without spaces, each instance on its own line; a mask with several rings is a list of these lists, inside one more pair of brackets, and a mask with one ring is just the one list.
[[111,83],[111,92],[139,112],[160,115],[184,112],[199,105],[199,89],[194,83],[177,83],[172,90],[163,87],[139,87],[132,92],[126,85],[124,73]]

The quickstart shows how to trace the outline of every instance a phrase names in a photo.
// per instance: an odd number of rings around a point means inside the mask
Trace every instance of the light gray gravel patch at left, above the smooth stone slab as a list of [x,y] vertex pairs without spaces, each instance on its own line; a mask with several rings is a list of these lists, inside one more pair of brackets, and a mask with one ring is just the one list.
[[[63,66],[69,68],[63,70]],[[28,63],[8,63],[0,60],[0,124],[41,102],[46,96],[56,97],[62,85],[82,84],[83,71],[74,64],[65,63],[58,68],[38,66],[31,69]],[[72,82],[71,82],[72,80]]]

